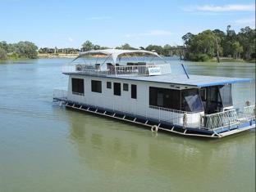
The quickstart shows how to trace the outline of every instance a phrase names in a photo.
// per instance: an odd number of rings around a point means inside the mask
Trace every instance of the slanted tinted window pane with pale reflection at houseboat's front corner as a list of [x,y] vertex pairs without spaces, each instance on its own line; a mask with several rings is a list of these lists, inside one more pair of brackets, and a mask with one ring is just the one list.
[[181,110],[191,112],[203,111],[203,105],[198,89],[181,91]]

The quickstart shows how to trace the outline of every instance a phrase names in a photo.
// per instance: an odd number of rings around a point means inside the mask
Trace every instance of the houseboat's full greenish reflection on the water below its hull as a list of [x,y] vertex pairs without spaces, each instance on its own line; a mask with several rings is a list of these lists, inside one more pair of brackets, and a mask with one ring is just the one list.
[[[224,178],[235,179],[231,170],[237,163],[254,167],[255,157],[241,157],[254,153],[254,131],[222,140],[201,140],[165,133],[155,137],[141,127],[86,113],[70,115],[69,122],[69,140],[78,151],[80,163],[107,175],[150,172],[171,182],[187,177],[208,182],[208,177],[223,177],[223,172]],[[253,172],[250,168],[247,171]]]

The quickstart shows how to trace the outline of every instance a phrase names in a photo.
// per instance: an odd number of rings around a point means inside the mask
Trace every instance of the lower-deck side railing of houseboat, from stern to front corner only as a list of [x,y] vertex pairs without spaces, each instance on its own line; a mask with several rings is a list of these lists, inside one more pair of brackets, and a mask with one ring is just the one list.
[[[132,114],[135,117],[141,116],[147,119],[155,119],[158,122],[167,122],[176,124],[182,127],[200,127],[200,118],[203,112],[193,113],[185,112],[176,109],[167,109],[159,106],[153,105],[143,105],[138,104],[135,100],[130,100],[130,104],[127,105],[127,100],[121,98],[111,98],[102,96],[89,95],[77,95],[72,92],[68,93],[63,90],[54,90],[53,99],[57,100],[67,100],[67,94],[69,95],[69,100],[80,103],[81,105],[90,105],[95,108],[108,109],[113,112],[121,112],[124,114]],[[107,102],[106,102],[107,100]],[[185,122],[184,122],[185,120]]]

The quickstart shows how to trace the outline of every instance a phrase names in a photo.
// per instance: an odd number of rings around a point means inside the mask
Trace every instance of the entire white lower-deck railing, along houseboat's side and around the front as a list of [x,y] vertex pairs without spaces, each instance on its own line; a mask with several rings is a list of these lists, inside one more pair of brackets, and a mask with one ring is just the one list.
[[[207,130],[217,130],[231,127],[240,123],[240,118],[235,109],[226,110],[215,114],[204,114],[203,112],[186,112],[176,109],[167,109],[153,105],[138,104],[135,100],[124,100],[122,98],[104,97],[94,94],[77,95],[70,93],[69,100],[79,102],[95,108],[108,109],[113,112],[133,114],[135,117],[153,118],[159,122],[172,123],[181,127],[194,127]],[[54,90],[53,98],[67,100],[67,92]],[[79,100],[79,101],[78,101]],[[106,102],[107,100],[107,102]],[[127,105],[129,102],[129,105]],[[243,112],[246,121],[255,119],[255,105],[246,106]]]

